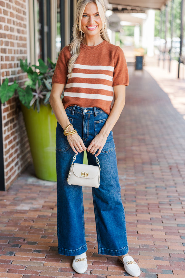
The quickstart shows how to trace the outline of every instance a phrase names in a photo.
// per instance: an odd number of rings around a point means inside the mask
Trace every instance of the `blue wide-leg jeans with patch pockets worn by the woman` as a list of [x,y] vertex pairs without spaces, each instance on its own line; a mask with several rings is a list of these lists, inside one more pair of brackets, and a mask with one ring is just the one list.
[[[100,132],[108,117],[97,107],[70,106],[66,108],[66,113],[86,147]],[[67,136],[63,134],[63,128],[58,123],[56,128],[58,252],[66,256],[80,255],[87,251],[82,187],[67,183],[74,154]],[[89,164],[97,165],[95,155],[87,152],[87,156]],[[101,166],[100,187],[92,187],[98,253],[125,255],[128,253],[125,213],[120,195],[112,131],[98,158]],[[83,152],[77,155],[75,162],[83,163]]]

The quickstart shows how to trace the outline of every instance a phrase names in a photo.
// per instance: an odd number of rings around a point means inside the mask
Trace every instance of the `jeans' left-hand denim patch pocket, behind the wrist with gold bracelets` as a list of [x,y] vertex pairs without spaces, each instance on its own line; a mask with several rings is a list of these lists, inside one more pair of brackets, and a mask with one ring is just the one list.
[[[69,118],[70,123],[72,124],[73,119]],[[70,145],[67,139],[67,136],[64,135],[64,130],[61,125],[57,122],[56,126],[56,150],[61,152],[67,152],[69,150]]]

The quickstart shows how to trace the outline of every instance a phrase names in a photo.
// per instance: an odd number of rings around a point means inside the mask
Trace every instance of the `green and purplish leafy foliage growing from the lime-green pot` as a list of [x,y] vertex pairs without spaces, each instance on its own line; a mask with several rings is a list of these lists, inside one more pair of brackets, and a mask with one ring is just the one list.
[[42,59],[39,59],[39,66],[35,67],[35,71],[28,65],[27,60],[20,60],[21,69],[27,73],[28,79],[25,82],[25,88],[21,88],[17,81],[12,85],[8,85],[8,78],[0,86],[0,99],[2,103],[9,100],[17,91],[19,100],[28,109],[33,106],[37,112],[40,111],[40,104],[44,105],[49,103],[51,93],[51,79],[55,70],[55,65],[49,58],[47,59],[50,66],[46,65]]

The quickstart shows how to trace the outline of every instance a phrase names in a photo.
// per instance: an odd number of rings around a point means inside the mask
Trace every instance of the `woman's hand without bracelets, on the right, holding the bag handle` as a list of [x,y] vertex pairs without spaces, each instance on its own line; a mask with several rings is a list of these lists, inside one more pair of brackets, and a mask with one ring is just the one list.
[[95,156],[98,156],[101,153],[101,150],[103,149],[105,143],[107,141],[107,136],[98,133],[94,139],[91,141],[90,145],[87,148],[87,151],[90,154],[95,154],[98,150],[97,154]]

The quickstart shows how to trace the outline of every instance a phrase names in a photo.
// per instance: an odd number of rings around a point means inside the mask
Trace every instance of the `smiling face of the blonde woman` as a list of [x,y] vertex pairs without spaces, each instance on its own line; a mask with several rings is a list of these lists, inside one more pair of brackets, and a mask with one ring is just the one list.
[[98,12],[97,4],[92,2],[86,5],[81,20],[81,29],[88,36],[100,36],[102,21]]

